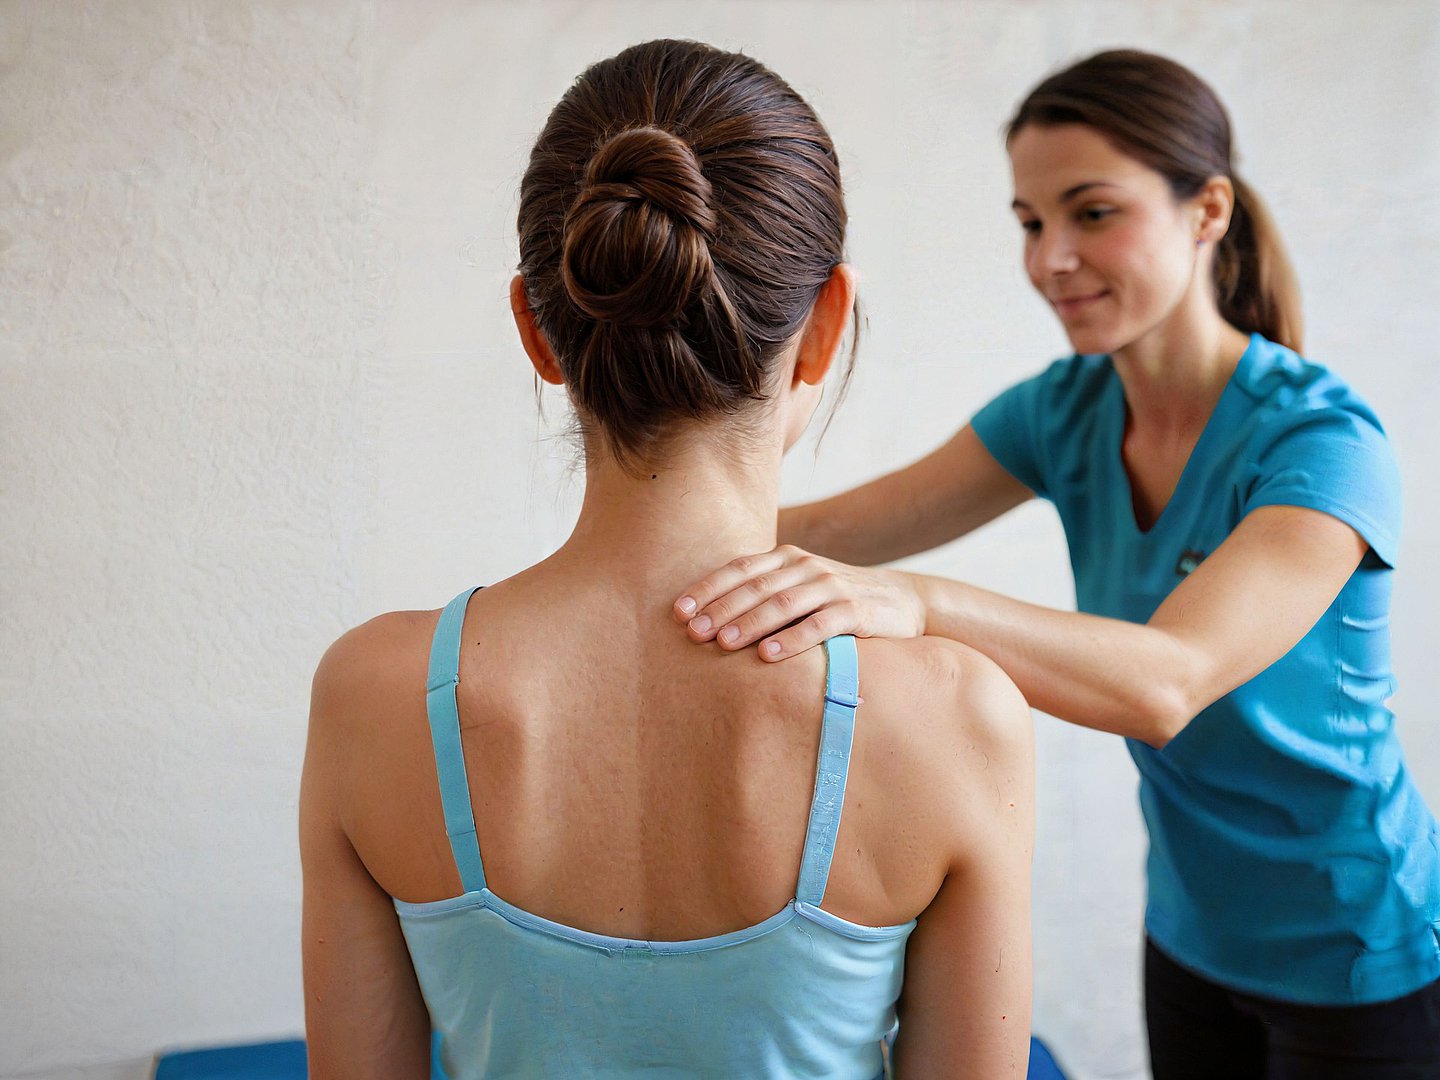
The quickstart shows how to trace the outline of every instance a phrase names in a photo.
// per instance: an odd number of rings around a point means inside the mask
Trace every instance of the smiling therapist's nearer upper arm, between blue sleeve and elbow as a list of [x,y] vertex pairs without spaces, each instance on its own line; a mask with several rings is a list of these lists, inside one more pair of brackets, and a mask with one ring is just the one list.
[[[1289,652],[1335,602],[1368,547],[1355,528],[1297,505],[1251,510],[1151,616],[1181,651],[1172,736],[1201,708]],[[1158,685],[1165,685],[1158,681]]]

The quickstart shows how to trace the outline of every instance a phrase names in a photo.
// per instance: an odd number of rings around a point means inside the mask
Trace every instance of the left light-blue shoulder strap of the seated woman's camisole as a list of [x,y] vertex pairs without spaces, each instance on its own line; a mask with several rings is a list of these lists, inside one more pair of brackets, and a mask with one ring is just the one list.
[[441,779],[441,805],[445,808],[445,832],[455,852],[455,868],[467,893],[485,887],[485,867],[480,861],[475,838],[475,814],[469,805],[469,780],[465,779],[465,750],[459,743],[459,635],[465,608],[475,589],[467,589],[445,605],[431,641],[431,674],[425,683],[425,711],[431,719],[435,743],[435,772]]

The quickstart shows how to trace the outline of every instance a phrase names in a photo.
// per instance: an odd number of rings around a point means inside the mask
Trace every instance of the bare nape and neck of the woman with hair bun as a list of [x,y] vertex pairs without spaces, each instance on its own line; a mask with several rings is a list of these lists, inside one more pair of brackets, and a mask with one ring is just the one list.
[[670,600],[701,573],[775,547],[782,455],[779,439],[742,448],[696,436],[634,475],[588,446],[580,518],[553,562]]

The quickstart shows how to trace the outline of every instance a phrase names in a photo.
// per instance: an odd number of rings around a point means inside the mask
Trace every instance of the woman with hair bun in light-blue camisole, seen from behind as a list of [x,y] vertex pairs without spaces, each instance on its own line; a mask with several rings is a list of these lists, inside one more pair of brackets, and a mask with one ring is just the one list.
[[775,546],[854,305],[829,135],[756,60],[634,46],[550,114],[518,233],[516,323],[575,405],[583,505],[543,563],[315,672],[311,1076],[422,1077],[433,1028],[452,1080],[870,1080],[899,1012],[901,1076],[1022,1077],[1009,680],[950,641],[770,665],[662,618]]

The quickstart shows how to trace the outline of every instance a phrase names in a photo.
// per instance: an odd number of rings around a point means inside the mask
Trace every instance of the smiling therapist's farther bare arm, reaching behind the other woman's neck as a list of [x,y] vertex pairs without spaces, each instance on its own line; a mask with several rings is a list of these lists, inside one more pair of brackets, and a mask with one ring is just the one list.
[[971,425],[897,472],[780,513],[780,543],[873,566],[979,528],[1032,497]]

